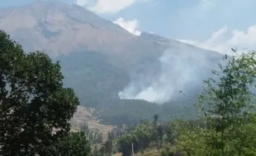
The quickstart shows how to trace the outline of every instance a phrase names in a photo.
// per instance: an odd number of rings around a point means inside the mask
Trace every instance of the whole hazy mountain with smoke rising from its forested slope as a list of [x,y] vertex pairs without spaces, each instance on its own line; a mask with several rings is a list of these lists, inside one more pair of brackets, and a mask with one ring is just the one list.
[[179,90],[197,94],[222,57],[156,34],[135,36],[83,7],[61,2],[2,9],[0,29],[27,51],[60,60],[65,85],[82,105],[105,110],[105,118],[111,114],[109,120],[141,118],[143,107],[149,108],[143,117],[169,114],[184,99]]

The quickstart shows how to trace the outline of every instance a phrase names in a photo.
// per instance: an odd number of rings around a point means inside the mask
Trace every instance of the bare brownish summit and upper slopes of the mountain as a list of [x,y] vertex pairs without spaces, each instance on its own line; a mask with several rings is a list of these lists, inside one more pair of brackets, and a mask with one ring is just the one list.
[[81,49],[115,53],[132,34],[78,5],[37,1],[23,7],[0,10],[0,29],[6,30],[26,50],[50,55]]

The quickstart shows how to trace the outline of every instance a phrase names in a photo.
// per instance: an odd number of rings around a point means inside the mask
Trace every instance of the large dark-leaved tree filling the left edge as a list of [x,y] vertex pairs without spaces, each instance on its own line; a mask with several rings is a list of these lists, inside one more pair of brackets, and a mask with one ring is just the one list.
[[0,155],[50,155],[50,145],[69,135],[78,98],[63,79],[59,62],[25,53],[0,31]]

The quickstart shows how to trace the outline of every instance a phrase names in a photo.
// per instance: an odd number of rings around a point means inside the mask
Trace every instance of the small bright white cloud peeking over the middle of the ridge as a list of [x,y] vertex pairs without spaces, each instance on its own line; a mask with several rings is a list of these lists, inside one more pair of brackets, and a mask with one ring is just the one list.
[[113,21],[116,25],[120,25],[125,30],[129,31],[131,34],[140,35],[140,30],[137,30],[138,21],[137,19],[134,20],[125,20],[123,18],[118,18],[116,21]]

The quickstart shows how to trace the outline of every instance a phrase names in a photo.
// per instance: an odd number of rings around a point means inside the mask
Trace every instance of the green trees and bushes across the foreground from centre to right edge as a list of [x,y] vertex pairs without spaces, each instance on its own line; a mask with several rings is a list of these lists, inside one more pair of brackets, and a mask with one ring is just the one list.
[[213,71],[213,78],[205,81],[198,95],[196,119],[159,122],[154,115],[152,123],[143,121],[130,131],[122,129],[116,147],[125,156],[131,154],[132,146],[138,155],[154,148],[154,155],[163,156],[255,155],[255,56],[249,52],[225,57],[227,64]]

